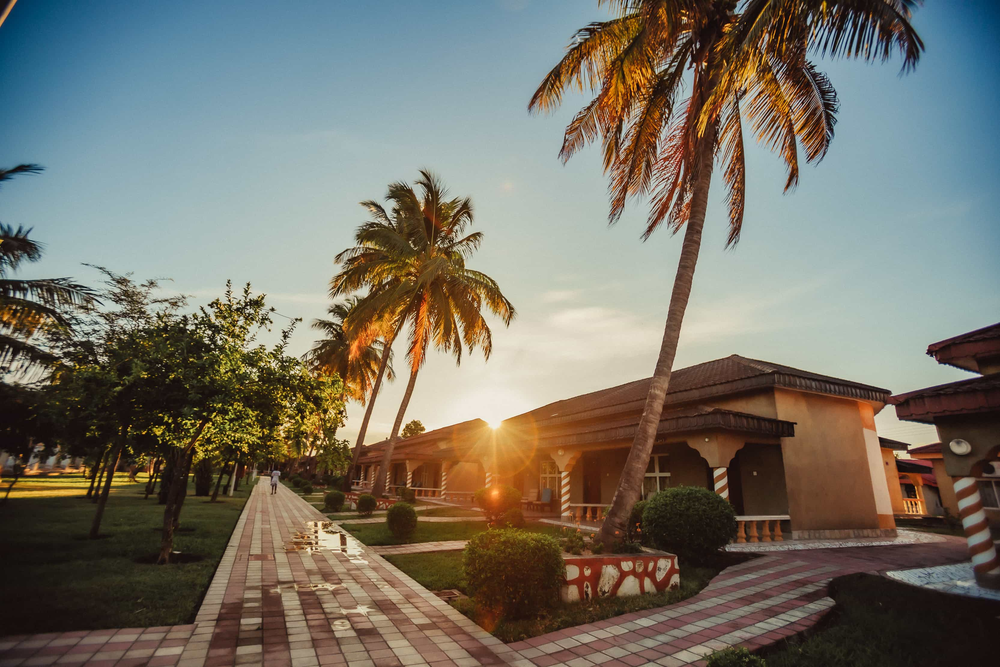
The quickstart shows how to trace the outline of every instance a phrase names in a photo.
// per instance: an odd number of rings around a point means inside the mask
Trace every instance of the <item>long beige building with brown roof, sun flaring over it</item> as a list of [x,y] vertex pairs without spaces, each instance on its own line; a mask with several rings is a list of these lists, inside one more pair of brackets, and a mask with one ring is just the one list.
[[[505,420],[473,420],[397,443],[391,485],[466,500],[502,482],[528,499],[553,489],[557,514],[600,521],[642,414],[650,380],[575,396]],[[714,489],[748,535],[895,535],[874,417],[889,391],[732,355],[673,372],[646,494]],[[370,486],[387,443],[361,457]],[[898,480],[896,482],[898,486]]]

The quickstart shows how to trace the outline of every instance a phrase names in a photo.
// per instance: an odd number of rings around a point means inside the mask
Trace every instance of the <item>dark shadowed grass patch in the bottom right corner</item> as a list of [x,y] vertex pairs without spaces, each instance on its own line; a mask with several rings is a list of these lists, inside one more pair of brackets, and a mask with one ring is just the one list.
[[1000,603],[863,573],[834,579],[830,595],[833,611],[769,649],[768,667],[996,664]]

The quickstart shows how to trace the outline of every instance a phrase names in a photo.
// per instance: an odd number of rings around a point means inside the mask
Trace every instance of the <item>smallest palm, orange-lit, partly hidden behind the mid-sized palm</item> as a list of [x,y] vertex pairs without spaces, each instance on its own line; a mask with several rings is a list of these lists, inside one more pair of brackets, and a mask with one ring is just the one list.
[[[390,382],[396,379],[392,370],[392,350],[385,345],[384,326],[375,323],[362,336],[362,340],[354,340],[344,331],[344,321],[357,306],[359,297],[349,297],[344,302],[337,302],[327,308],[328,320],[313,320],[312,328],[325,334],[325,338],[316,341],[309,352],[305,354],[306,362],[314,371],[340,376],[344,393],[341,400],[350,399],[365,405],[368,397],[374,403],[373,389],[376,380],[380,378],[383,354],[388,352],[384,373]],[[372,338],[376,337],[374,340]],[[365,429],[367,430],[367,420]],[[351,474],[358,465],[361,448],[354,448],[351,467],[348,468],[345,486],[350,488]]]

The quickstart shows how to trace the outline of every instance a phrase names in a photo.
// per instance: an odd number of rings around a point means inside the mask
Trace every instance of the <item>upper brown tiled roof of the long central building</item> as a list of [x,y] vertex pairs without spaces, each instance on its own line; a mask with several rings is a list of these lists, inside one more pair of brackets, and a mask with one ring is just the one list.
[[[879,387],[841,380],[828,375],[820,375],[792,368],[791,366],[760,361],[759,359],[749,359],[741,357],[738,354],[733,354],[722,359],[706,361],[695,366],[675,370],[670,376],[670,387],[667,392],[666,404],[683,402],[690,399],[697,400],[698,396],[691,395],[689,397],[686,394],[691,394],[699,390],[707,390],[713,387],[723,389],[722,385],[739,383],[740,381],[752,381],[754,379],[767,380],[770,378],[777,380],[779,376],[781,378],[798,378],[807,382],[818,383],[826,387],[827,390],[835,390],[839,387],[853,389],[855,393],[880,395],[881,400],[885,400],[890,393],[887,389]],[[649,393],[651,380],[652,378],[643,378],[642,380],[635,380],[618,385],[617,387],[601,389],[589,394],[556,401],[518,415],[517,417],[512,417],[511,419],[542,421],[560,415],[574,414],[637,401],[641,402],[646,399],[646,395]],[[761,384],[767,383],[764,382]],[[775,381],[771,384],[784,384],[784,382]],[[725,393],[725,391],[717,393]]]

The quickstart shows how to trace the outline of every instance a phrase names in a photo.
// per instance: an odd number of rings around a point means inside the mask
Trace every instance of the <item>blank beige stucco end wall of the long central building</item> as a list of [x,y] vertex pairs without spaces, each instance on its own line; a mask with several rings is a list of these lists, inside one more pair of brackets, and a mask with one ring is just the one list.
[[774,397],[778,419],[796,423],[795,437],[781,439],[792,528],[882,527],[858,402],[784,389]]

